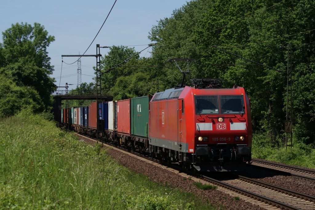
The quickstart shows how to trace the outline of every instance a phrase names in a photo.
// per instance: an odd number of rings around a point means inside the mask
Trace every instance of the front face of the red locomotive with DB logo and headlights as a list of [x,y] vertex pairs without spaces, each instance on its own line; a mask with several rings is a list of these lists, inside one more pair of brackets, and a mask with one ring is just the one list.
[[236,170],[237,163],[250,162],[251,116],[244,89],[234,86],[192,92],[195,111],[193,166],[197,170]]

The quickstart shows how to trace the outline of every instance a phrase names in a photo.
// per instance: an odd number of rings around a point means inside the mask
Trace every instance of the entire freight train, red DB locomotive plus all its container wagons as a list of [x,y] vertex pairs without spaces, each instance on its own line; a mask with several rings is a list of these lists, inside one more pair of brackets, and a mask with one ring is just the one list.
[[[223,89],[218,79],[152,97],[96,102],[62,110],[76,132],[198,171],[231,171],[251,161],[250,100],[242,87]],[[99,114],[97,114],[99,113]],[[100,128],[99,128],[100,129]]]

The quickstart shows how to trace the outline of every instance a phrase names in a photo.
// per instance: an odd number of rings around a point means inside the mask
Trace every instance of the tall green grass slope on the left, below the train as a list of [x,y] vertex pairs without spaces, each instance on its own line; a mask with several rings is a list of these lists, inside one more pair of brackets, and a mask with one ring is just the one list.
[[0,119],[0,209],[213,209],[29,111]]

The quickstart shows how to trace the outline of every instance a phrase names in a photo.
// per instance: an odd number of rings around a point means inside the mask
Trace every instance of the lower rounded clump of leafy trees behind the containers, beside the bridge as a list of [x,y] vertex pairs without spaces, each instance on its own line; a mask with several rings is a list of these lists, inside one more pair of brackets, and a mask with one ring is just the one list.
[[[112,94],[114,100],[154,93],[155,85],[151,82],[152,73],[148,71],[148,68],[141,67],[148,65],[150,59],[136,55],[128,61],[128,66],[122,64],[115,67],[136,53],[134,48],[112,46],[108,55],[101,60],[102,89]],[[111,69],[112,67],[115,68]]]

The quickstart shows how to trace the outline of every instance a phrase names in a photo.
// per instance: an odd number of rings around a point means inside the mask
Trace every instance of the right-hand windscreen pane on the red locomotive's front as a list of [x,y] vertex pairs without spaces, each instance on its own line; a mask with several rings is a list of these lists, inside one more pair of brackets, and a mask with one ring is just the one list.
[[245,114],[243,95],[220,95],[221,114]]

